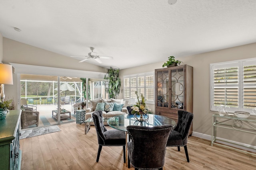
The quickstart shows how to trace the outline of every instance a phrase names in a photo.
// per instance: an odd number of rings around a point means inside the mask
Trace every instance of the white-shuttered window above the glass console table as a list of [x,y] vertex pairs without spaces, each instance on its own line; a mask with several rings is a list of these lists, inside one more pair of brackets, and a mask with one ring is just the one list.
[[211,110],[221,104],[230,111],[256,107],[256,59],[210,64]]

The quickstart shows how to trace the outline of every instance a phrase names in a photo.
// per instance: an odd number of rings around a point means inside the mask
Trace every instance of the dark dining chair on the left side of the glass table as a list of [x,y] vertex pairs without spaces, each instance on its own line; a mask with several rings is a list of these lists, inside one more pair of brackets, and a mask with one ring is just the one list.
[[92,113],[92,118],[94,121],[94,125],[97,132],[98,137],[98,154],[96,162],[99,161],[100,158],[100,152],[102,149],[102,146],[123,146],[123,152],[124,152],[124,163],[126,162],[125,158],[125,150],[126,150],[126,134],[124,131],[120,130],[107,130],[104,126],[103,119],[102,119],[102,111],[94,111]]

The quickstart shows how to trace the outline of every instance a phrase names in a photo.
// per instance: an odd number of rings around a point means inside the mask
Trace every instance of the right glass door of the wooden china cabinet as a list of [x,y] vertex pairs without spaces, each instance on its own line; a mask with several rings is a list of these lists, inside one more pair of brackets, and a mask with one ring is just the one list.
[[183,109],[184,68],[171,70],[171,108]]

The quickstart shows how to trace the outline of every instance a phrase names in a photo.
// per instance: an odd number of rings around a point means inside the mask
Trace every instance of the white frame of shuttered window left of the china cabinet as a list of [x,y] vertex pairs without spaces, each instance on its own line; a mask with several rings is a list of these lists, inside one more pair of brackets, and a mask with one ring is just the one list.
[[[154,78],[154,75],[155,73],[154,72],[146,72],[146,73],[138,73],[138,74],[131,74],[131,75],[125,75],[124,77],[123,77],[123,84],[125,85],[125,83],[124,83],[124,80],[126,79],[126,78],[129,78],[129,79],[131,79],[131,78],[136,78],[136,86],[133,86],[133,87],[131,87],[131,82],[129,81],[129,87],[125,87],[124,86],[124,88],[129,88],[130,90],[129,90],[129,93],[131,93],[131,88],[136,88],[136,91],[138,90],[138,88],[143,88],[143,87],[138,87],[138,77],[142,77],[142,76],[144,76],[144,94],[143,94],[143,96],[146,98],[146,88],[153,88],[154,90],[155,90],[155,88],[154,88],[154,84],[155,84],[155,82],[153,82],[153,86],[146,86],[146,76],[153,76],[153,81],[155,81],[155,78]],[[154,98],[155,98],[155,92],[153,91],[153,100],[149,100],[149,99],[147,99],[146,98],[146,104],[154,104]],[[131,96],[131,95],[129,95],[129,96]],[[123,94],[123,98],[124,98],[124,100],[127,100],[127,101],[129,101],[129,99],[128,98],[125,98],[124,97],[124,94]]]

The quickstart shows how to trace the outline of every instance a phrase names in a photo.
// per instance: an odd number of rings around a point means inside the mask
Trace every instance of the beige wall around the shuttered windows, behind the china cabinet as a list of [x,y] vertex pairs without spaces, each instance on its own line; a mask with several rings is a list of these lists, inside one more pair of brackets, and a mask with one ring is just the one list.
[[[243,45],[239,47],[223,49],[219,51],[212,51],[208,53],[192,55],[188,57],[179,58],[183,61],[182,64],[193,66],[194,74],[194,88],[193,88],[193,131],[212,135],[212,114],[217,113],[210,111],[210,64],[224,61],[233,61],[240,59],[248,59],[256,57],[256,43]],[[168,57],[166,57],[167,60]],[[162,68],[165,61],[148,64],[140,67],[128,68],[120,70],[120,78],[124,75],[135,74],[141,72],[150,72],[156,68]],[[121,89],[123,86],[121,87]],[[120,94],[118,98],[122,98]],[[152,109],[154,106],[150,106]],[[256,146],[255,135],[236,135],[237,131],[225,131],[219,129],[221,132],[219,137],[227,138],[232,141],[247,143]],[[254,140],[252,140],[254,139]]]

